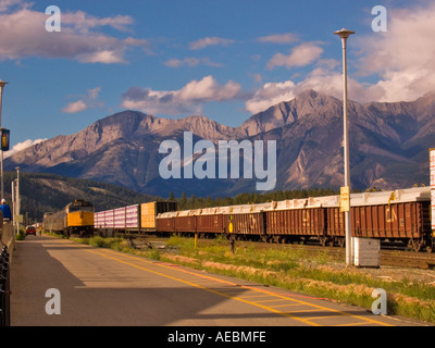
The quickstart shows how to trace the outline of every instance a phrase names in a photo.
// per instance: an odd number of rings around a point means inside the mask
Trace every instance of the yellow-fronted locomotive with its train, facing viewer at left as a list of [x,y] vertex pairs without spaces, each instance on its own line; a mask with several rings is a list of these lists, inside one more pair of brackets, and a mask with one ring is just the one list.
[[63,210],[44,215],[44,229],[71,235],[90,235],[94,233],[94,204],[76,199]]

